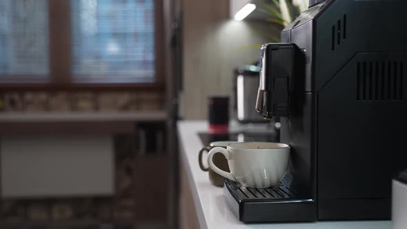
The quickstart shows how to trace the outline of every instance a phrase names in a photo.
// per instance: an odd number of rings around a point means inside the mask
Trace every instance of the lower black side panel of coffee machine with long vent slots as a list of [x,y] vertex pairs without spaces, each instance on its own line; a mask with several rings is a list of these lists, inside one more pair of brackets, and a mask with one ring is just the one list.
[[[395,84],[399,75],[386,73],[390,97],[376,100],[376,74],[368,64],[388,61],[405,62],[407,54],[359,53],[318,94],[319,219],[390,217],[391,180],[407,163],[407,103],[393,97],[393,89],[406,89],[406,82]],[[361,63],[368,69],[363,76],[357,74]]]

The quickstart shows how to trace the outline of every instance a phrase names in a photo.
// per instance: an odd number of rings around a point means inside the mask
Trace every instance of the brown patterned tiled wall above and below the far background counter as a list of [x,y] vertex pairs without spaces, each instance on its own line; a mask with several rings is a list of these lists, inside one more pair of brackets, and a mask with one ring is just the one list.
[[[163,93],[155,91],[0,93],[1,112],[108,112],[164,109],[165,97]],[[135,135],[115,136],[115,195],[1,199],[0,228],[144,228],[135,227],[135,219],[137,219],[135,208],[138,203],[135,201],[137,192],[135,192],[136,179],[133,171],[139,151],[135,147],[137,144],[135,142],[137,142]],[[88,223],[88,226],[86,223],[79,223],[78,226],[72,226],[72,222],[77,221],[96,223]],[[61,222],[63,226],[50,226],[50,223],[55,222]],[[165,228],[162,226],[163,222],[159,222],[161,224],[159,223],[158,226],[156,224],[152,228]],[[107,223],[108,226],[101,226],[103,223]]]

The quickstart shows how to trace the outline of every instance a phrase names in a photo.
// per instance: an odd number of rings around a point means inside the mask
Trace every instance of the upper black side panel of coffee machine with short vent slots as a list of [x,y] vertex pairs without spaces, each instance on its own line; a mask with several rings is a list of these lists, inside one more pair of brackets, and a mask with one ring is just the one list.
[[312,91],[324,87],[358,52],[407,52],[407,32],[400,28],[400,23],[405,21],[407,1],[336,0],[326,3],[313,20],[315,82],[310,88]]

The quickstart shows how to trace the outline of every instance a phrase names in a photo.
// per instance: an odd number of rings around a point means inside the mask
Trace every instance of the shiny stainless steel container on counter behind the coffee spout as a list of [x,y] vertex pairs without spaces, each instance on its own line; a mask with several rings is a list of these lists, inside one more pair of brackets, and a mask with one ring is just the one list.
[[235,117],[241,123],[258,123],[264,119],[256,112],[255,104],[259,89],[258,66],[243,66],[235,70]]

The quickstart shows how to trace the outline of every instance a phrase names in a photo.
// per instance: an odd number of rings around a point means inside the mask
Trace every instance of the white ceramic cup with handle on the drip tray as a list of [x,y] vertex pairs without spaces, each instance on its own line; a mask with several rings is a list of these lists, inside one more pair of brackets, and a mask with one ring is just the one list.
[[[212,161],[216,153],[228,159],[230,172],[221,170]],[[215,147],[209,151],[209,167],[222,177],[237,181],[249,188],[276,186],[284,177],[290,159],[290,146],[272,142],[236,142],[226,149]]]

